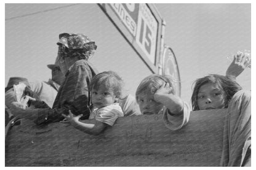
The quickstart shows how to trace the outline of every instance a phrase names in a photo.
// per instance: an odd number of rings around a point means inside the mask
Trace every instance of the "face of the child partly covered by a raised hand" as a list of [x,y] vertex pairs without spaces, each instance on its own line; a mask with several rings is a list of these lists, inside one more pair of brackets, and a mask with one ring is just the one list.
[[142,114],[158,114],[164,105],[154,101],[151,93],[142,93],[138,95],[138,106]]

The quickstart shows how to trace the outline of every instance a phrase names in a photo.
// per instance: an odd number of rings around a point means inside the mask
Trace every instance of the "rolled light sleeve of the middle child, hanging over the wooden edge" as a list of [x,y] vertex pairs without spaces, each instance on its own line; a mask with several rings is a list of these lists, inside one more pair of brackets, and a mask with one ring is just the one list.
[[186,123],[188,123],[191,109],[186,102],[183,102],[183,106],[183,113],[178,115],[172,115],[172,113],[170,113],[169,110],[164,107],[162,120],[164,121],[164,125],[166,125],[167,128],[174,131],[182,128],[186,125]]

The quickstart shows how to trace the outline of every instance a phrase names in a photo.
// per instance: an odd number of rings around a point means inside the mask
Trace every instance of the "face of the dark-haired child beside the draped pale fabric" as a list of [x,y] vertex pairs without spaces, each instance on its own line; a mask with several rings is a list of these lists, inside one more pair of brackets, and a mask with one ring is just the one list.
[[199,110],[225,107],[225,96],[216,83],[206,83],[199,88],[198,107]]

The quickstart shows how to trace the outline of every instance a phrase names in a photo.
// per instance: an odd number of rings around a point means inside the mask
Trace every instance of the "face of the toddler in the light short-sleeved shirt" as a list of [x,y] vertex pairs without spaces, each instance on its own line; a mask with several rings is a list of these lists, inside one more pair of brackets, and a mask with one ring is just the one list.
[[92,90],[92,104],[94,107],[102,108],[113,104],[116,101],[116,95],[113,91],[108,90],[103,85],[100,85],[98,90]]

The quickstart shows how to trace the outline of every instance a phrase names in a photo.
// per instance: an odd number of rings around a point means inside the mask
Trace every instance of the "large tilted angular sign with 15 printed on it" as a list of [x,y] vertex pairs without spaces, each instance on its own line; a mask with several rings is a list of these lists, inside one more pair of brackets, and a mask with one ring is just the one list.
[[99,4],[154,73],[158,73],[162,18],[152,4]]

